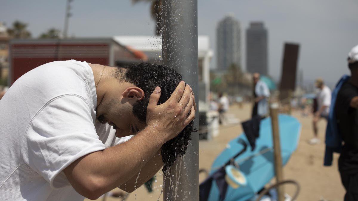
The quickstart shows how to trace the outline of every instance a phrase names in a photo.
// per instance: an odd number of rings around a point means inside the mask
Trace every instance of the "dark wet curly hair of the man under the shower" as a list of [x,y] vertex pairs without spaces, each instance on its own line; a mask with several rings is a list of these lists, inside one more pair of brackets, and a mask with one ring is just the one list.
[[[170,95],[174,92],[179,82],[182,80],[182,75],[175,71],[175,69],[150,63],[140,63],[118,68],[115,76],[126,82],[135,84],[144,91],[144,99],[138,101],[133,105],[133,113],[140,121],[146,122],[147,106],[150,95],[154,88],[159,86],[161,95],[158,104],[164,103]],[[195,132],[193,129],[193,121],[190,122],[182,132],[175,138],[164,143],[161,147],[161,156],[164,163],[163,173],[169,176],[169,170],[176,157],[183,156],[187,151],[187,146],[191,140],[191,133]]]

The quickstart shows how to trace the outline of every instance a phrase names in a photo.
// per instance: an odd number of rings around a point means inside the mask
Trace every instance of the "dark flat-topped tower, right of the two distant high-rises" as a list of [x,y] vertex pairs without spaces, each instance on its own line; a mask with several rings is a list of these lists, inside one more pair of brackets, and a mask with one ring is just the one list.
[[246,30],[246,70],[250,73],[268,74],[267,30],[263,22],[251,22]]

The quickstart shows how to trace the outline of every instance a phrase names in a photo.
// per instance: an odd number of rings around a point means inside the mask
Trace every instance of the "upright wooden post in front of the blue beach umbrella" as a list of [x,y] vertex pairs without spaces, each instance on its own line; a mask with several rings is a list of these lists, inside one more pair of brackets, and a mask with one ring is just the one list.
[[[275,174],[276,174],[277,183],[283,181],[278,113],[279,113],[279,104],[271,103],[270,116],[271,116],[271,124],[272,124],[272,139],[274,141],[274,159],[275,159],[274,164],[275,164]],[[278,201],[285,200],[284,188],[282,186],[279,186],[277,188],[277,197],[278,197]]]

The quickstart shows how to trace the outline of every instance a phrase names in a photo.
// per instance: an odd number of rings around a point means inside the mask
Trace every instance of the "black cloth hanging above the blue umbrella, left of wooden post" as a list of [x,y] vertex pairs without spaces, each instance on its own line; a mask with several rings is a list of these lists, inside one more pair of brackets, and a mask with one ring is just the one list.
[[255,149],[256,139],[260,135],[260,122],[261,122],[261,117],[255,116],[252,119],[241,123],[242,128],[245,132],[245,136],[248,139],[248,142],[250,143],[251,151]]

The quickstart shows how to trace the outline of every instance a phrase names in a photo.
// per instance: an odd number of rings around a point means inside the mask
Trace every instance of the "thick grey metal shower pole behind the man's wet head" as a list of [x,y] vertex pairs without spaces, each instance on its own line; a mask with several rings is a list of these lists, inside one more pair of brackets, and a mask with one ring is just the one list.
[[[198,2],[164,0],[162,7],[163,64],[175,68],[199,95],[198,78]],[[198,99],[197,99],[198,104]],[[194,127],[199,128],[198,112]],[[181,165],[180,165],[181,163]],[[173,176],[174,175],[174,176]],[[177,158],[171,177],[164,180],[164,200],[199,200],[199,134],[192,133],[187,152]]]

